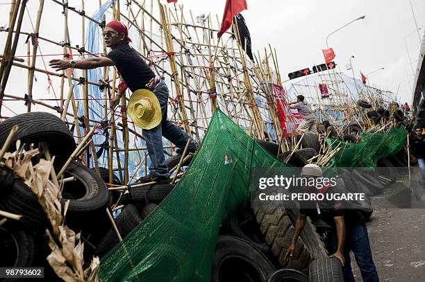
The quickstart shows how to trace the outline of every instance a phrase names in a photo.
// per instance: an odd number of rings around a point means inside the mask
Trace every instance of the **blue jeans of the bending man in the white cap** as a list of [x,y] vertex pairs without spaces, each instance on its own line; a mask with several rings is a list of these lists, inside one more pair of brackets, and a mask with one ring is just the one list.
[[[333,232],[333,248],[336,250],[338,241],[335,232]],[[350,251],[354,253],[363,281],[378,282],[378,272],[376,272],[376,267],[372,259],[366,224],[358,224],[352,231],[347,232],[347,238],[345,238],[345,281],[356,282],[353,276],[353,270],[351,269]]]

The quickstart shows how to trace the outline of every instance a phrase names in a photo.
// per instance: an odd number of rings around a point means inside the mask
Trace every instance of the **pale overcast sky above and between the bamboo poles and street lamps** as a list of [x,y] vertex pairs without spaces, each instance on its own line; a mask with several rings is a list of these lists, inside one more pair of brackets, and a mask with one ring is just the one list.
[[[425,29],[425,1],[411,1],[417,24],[422,28],[419,30],[422,36]],[[40,35],[62,41],[63,17],[60,14],[62,10],[50,0],[45,2]],[[147,0],[147,3],[149,2]],[[7,3],[10,3],[10,0],[0,0],[0,26],[7,26],[8,23],[10,5]],[[37,0],[28,1],[28,12],[34,23],[38,3]],[[91,15],[99,5],[97,0],[85,0],[85,3],[88,15]],[[221,21],[226,1],[178,0],[178,3],[184,5],[185,15],[188,15],[189,9],[192,10],[194,17],[211,13],[215,24],[215,14],[219,15]],[[248,10],[242,12],[242,15],[251,33],[253,51],[263,52],[265,46],[272,44],[277,51],[283,79],[288,78],[289,72],[322,63],[324,61],[322,49],[326,48],[326,36],[349,21],[365,15],[365,19],[355,21],[329,37],[329,45],[336,53],[335,62],[340,71],[352,76],[351,71],[347,71],[346,64],[353,55],[355,57],[353,67],[357,78],[360,76],[360,70],[367,74],[385,67],[383,71],[371,73],[369,83],[394,93],[399,89],[401,101],[411,101],[414,76],[408,51],[412,67],[415,69],[420,44],[409,0],[247,0],[247,3]],[[70,0],[69,6],[79,9],[81,1]],[[158,13],[155,16],[159,18]],[[72,15],[69,23],[73,44],[81,43],[81,17]],[[22,30],[31,32],[27,14]],[[6,41],[5,35],[6,33],[0,33],[0,52],[3,51]],[[24,39],[19,42],[17,55],[26,55],[23,42]],[[61,52],[60,47],[51,44],[43,43],[41,47],[44,54]],[[50,59],[47,58],[46,61]],[[42,63],[38,61],[38,65]],[[45,78],[40,73],[36,77],[38,82],[35,83],[35,89],[40,93],[46,92]],[[58,83],[54,86],[58,91]],[[15,67],[12,69],[6,92],[17,96],[26,93],[26,71]]]

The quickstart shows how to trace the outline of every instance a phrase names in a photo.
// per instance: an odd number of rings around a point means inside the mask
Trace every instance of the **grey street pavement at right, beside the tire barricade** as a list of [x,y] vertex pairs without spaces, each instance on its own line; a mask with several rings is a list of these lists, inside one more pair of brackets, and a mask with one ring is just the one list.
[[[412,171],[410,183],[417,184],[419,178],[419,171]],[[374,213],[367,222],[367,229],[381,282],[425,281],[425,188],[417,184],[416,195],[412,195],[411,202],[406,204],[411,195],[403,188],[407,183],[408,175],[403,175],[383,195],[372,197]],[[416,209],[409,208],[409,205]],[[403,206],[403,209],[397,206]],[[356,281],[363,281],[353,254],[351,263]]]

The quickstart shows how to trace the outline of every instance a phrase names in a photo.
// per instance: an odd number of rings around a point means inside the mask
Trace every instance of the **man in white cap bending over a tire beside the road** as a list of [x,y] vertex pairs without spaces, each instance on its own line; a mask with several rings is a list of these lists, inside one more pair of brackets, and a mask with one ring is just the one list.
[[[322,177],[322,168],[315,164],[307,164],[301,170],[301,177],[319,178]],[[305,187],[306,192],[317,193],[317,188]],[[329,188],[321,189],[328,193]],[[316,191],[314,191],[314,189]],[[308,208],[306,208],[308,206]],[[356,209],[344,209],[342,202],[338,201],[319,201],[308,202],[300,201],[300,209],[297,221],[295,222],[294,235],[285,258],[290,260],[295,250],[297,240],[306,224],[307,216],[310,218],[321,218],[324,222],[333,228],[333,249],[335,253],[332,257],[339,258],[344,265],[345,279],[347,282],[356,282],[351,270],[350,251],[352,250],[356,257],[356,262],[360,268],[363,281],[378,282],[378,273],[372,259],[372,251],[367,236],[367,228],[363,215]],[[336,236],[335,236],[336,233]]]

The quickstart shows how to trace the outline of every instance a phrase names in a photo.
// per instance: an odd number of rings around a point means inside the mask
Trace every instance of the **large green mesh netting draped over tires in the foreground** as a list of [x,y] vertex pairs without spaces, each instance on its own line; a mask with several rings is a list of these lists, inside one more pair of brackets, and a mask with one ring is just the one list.
[[217,109],[172,193],[102,259],[102,281],[210,281],[219,225],[247,203],[251,170],[278,166]]

